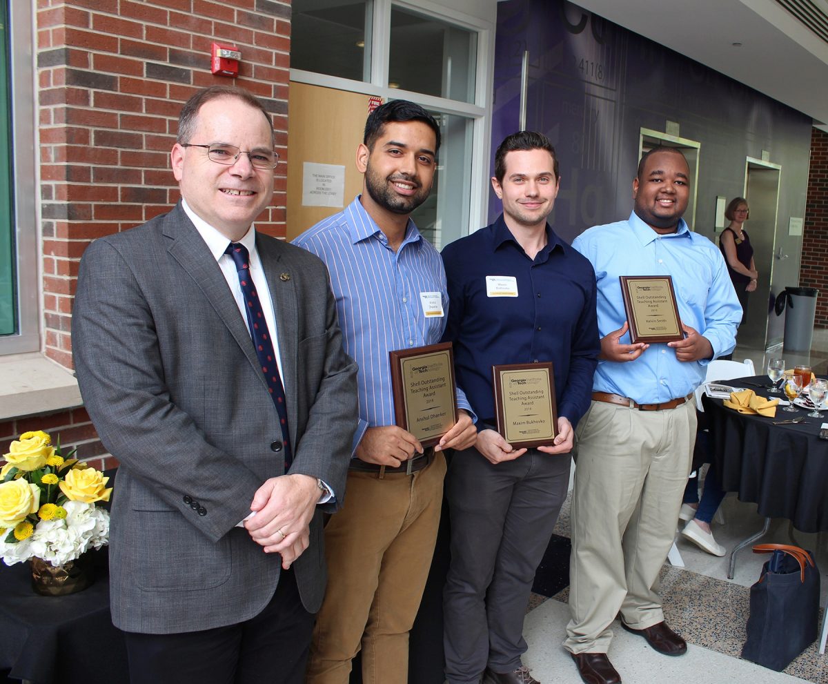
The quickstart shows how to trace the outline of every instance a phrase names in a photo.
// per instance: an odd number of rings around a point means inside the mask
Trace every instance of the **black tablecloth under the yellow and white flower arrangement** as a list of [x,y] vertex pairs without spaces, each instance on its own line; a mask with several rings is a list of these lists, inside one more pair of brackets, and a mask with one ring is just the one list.
[[109,614],[106,558],[104,547],[94,585],[69,596],[35,594],[29,563],[0,561],[0,672],[35,684],[129,681],[123,635]]

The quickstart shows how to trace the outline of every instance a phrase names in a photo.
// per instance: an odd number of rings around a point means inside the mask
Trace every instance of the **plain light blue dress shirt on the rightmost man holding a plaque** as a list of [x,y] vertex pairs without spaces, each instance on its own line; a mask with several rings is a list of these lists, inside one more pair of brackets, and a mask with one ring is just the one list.
[[[676,233],[659,235],[633,212],[627,221],[590,228],[572,242],[590,260],[598,282],[598,330],[618,330],[624,312],[620,276],[672,276],[679,316],[713,346],[713,358],[736,344],[742,307],[724,258],[709,239],[692,233],[684,219]],[[629,334],[621,338],[629,344]],[[704,381],[710,359],[683,362],[667,344],[650,344],[625,364],[599,361],[593,391],[620,394],[642,404],[686,397]]]

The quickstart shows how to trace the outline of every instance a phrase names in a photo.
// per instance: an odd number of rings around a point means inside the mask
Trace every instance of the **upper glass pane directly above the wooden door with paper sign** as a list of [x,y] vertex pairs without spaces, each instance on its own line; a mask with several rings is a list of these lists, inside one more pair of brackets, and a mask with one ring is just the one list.
[[291,69],[370,80],[369,0],[293,0]]

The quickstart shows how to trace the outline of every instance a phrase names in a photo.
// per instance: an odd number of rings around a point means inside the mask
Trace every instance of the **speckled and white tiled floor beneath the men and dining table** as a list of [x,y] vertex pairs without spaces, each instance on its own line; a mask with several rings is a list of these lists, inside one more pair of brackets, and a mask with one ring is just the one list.
[[[828,330],[815,330],[811,354],[786,353],[782,349],[766,354],[764,350],[737,347],[734,359],[749,358],[757,373],[762,373],[766,359],[782,356],[787,367],[809,363],[815,373],[828,373]],[[828,498],[828,483],[826,483]],[[745,537],[762,529],[763,518],[756,506],[740,502],[729,494],[721,506],[724,525],[714,523],[716,541],[728,549]],[[569,536],[569,502],[561,510],[556,532]],[[774,520],[763,542],[790,543],[787,521]],[[821,567],[821,606],[828,603],[828,533],[804,534],[793,531],[798,546],[816,552]],[[791,663],[784,672],[773,672],[739,658],[744,642],[744,625],[748,616],[749,586],[758,579],[767,556],[758,556],[748,549],[740,552],[733,580],[727,579],[728,556],[710,556],[679,537],[677,546],[685,567],[669,564],[662,570],[662,597],[667,622],[690,643],[681,658],[662,656],[641,638],[626,633],[618,625],[609,657],[623,682],[693,682],[693,684],[782,684],[782,682],[816,682],[828,684],[828,653],[819,655],[816,644]],[[579,684],[580,677],[568,653],[561,648],[566,634],[569,609],[567,591],[544,600],[533,595],[524,634],[529,650],[524,663],[542,684]],[[821,626],[821,622],[820,622]]]

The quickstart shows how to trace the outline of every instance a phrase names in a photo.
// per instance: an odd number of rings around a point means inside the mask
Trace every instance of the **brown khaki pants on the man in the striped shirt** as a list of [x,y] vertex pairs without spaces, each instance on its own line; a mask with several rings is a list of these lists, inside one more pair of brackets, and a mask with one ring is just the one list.
[[307,684],[348,684],[362,648],[363,684],[406,684],[408,632],[440,523],[445,457],[414,474],[350,471],[344,508],[325,526],[328,587]]

